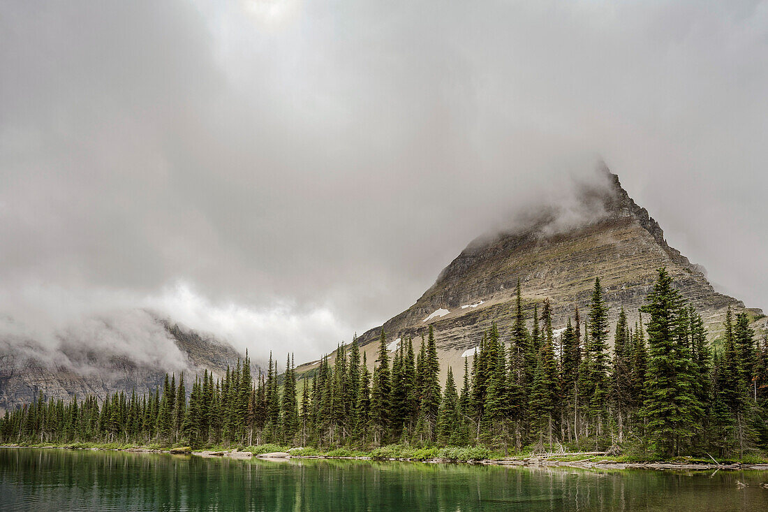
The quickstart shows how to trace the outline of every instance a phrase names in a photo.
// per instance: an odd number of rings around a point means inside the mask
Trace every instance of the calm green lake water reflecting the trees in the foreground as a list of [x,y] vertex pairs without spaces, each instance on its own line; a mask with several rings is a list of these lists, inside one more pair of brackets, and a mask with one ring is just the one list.
[[[739,488],[737,480],[747,484]],[[0,510],[768,510],[768,471],[478,467],[0,449]]]

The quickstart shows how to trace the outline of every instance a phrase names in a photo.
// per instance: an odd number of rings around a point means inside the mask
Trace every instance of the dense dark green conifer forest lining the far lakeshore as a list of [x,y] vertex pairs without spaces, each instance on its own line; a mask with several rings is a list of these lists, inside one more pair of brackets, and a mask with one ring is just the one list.
[[[728,311],[710,344],[700,314],[660,269],[641,311],[614,329],[594,281],[589,311],[555,336],[547,300],[527,318],[518,283],[511,337],[497,324],[439,381],[432,327],[393,352],[383,330],[372,372],[357,340],[297,376],[248,356],[223,378],[166,375],[151,394],[47,400],[6,411],[0,441],[164,446],[483,446],[504,453],[607,450],[745,457],[768,447],[768,339]],[[612,336],[611,331],[614,332]],[[609,339],[612,337],[612,340]],[[612,342],[611,342],[612,341]],[[610,348],[609,348],[610,347]],[[470,362],[471,360],[471,362]]]

